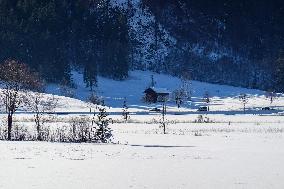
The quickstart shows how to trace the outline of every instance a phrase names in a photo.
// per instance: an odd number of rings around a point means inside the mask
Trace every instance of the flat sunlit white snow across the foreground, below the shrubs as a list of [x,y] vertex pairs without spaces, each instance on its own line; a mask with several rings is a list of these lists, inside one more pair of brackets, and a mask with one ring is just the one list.
[[119,144],[0,142],[0,188],[284,186],[283,124],[174,124],[167,135],[157,124],[113,129]]

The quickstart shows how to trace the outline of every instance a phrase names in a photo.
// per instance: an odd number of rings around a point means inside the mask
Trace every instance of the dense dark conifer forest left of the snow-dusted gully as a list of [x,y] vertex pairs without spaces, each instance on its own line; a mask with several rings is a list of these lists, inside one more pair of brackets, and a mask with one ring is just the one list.
[[70,82],[73,66],[87,87],[98,74],[128,76],[126,13],[109,0],[1,0],[0,62],[29,64],[50,82]]

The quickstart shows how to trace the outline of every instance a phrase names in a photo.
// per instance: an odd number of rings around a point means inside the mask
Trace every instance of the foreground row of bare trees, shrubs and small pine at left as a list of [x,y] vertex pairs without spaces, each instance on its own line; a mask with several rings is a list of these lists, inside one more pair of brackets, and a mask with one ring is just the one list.
[[[50,131],[47,132],[43,129],[44,115],[54,110],[57,100],[54,96],[43,95],[44,83],[38,74],[33,72],[26,64],[15,60],[6,60],[0,64],[0,82],[3,87],[0,100],[8,115],[7,136],[5,138],[7,140],[21,139],[21,136],[18,136],[18,138],[12,136],[13,116],[17,110],[24,108],[34,113],[36,139],[39,141],[47,140],[47,133]],[[76,124],[73,125],[72,133],[74,136],[72,135],[72,140],[69,139],[73,142],[109,142],[112,138],[111,129],[108,127],[109,122],[106,108],[102,106],[99,108],[95,125],[92,121],[92,124],[86,127],[87,130],[84,131],[84,135],[82,135],[82,128],[77,128],[78,125]],[[61,136],[62,132],[59,132],[58,135]],[[80,135],[80,137],[77,137],[77,135]],[[86,136],[89,136],[89,138]],[[65,139],[59,141],[65,141]]]

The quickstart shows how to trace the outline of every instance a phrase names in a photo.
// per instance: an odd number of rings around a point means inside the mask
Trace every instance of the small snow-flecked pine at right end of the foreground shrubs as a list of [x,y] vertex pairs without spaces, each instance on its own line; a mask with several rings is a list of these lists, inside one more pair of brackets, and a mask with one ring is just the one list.
[[99,108],[97,115],[95,141],[100,143],[109,143],[112,139],[112,129],[109,127],[111,119],[108,118],[108,113],[105,107]]

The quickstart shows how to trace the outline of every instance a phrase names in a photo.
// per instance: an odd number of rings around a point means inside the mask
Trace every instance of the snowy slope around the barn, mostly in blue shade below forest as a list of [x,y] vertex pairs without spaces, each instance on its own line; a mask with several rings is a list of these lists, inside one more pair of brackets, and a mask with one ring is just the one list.
[[[74,89],[75,98],[64,97],[60,87],[55,84],[48,85],[47,93],[56,95],[55,98],[58,100],[56,111],[88,112],[90,107],[94,107],[94,105],[86,102],[92,92],[85,87],[81,73],[73,71],[72,74],[76,85],[76,89]],[[152,76],[157,88],[165,88],[172,93],[180,89],[182,85],[182,81],[179,78],[165,74],[157,74],[149,71],[132,71],[129,75],[129,78],[124,81],[115,81],[103,77],[98,78],[98,87],[95,89],[95,92],[105,101],[107,106],[112,108],[111,111],[113,112],[121,112],[124,99],[127,100],[127,105],[132,112],[148,112],[153,107],[160,107],[161,103],[147,104],[142,101],[144,91],[150,86]],[[248,110],[258,111],[267,106],[273,107],[276,110],[284,110],[283,95],[279,95],[270,104],[270,99],[266,97],[264,91],[198,81],[191,81],[191,83],[192,101],[184,102],[181,108],[178,109],[173,94],[171,94],[170,100],[167,103],[169,111],[196,112],[200,106],[207,106],[203,99],[206,92],[210,97],[210,112],[213,113],[235,114],[242,111],[243,104],[239,100],[240,94],[248,95],[249,99],[246,104]],[[50,97],[50,94],[45,95],[45,97]]]

